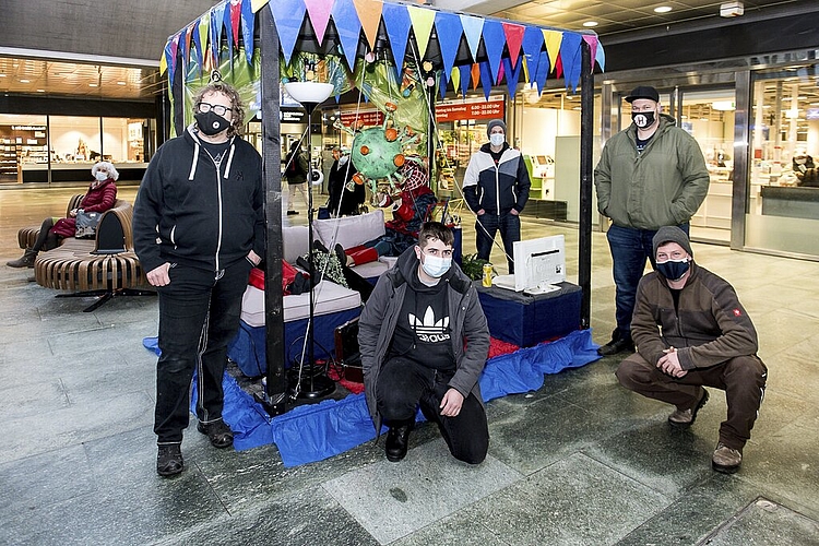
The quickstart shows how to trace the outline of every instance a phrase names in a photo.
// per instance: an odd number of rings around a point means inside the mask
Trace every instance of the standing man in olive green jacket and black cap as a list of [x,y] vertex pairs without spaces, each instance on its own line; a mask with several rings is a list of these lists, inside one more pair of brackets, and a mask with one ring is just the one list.
[[594,169],[597,207],[612,219],[606,237],[617,288],[617,328],[598,349],[603,356],[634,351],[631,314],[645,260],[654,266],[654,234],[678,226],[688,235],[710,180],[699,144],[661,114],[654,87],[641,85],[626,102],[632,123],[606,142]]

